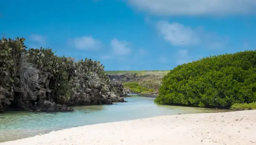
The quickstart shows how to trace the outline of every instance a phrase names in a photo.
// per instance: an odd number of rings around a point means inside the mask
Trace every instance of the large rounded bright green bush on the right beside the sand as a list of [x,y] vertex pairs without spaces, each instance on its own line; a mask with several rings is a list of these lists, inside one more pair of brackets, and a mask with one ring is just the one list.
[[210,56],[182,64],[162,79],[160,104],[230,107],[256,101],[256,51]]

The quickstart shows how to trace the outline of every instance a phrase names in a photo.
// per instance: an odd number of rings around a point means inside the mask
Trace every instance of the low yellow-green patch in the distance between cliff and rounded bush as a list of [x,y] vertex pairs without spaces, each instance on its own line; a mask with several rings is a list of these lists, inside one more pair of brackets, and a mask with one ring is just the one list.
[[130,89],[133,93],[147,94],[154,92],[154,89],[148,89],[140,86],[138,82],[125,82],[123,83],[124,88]]

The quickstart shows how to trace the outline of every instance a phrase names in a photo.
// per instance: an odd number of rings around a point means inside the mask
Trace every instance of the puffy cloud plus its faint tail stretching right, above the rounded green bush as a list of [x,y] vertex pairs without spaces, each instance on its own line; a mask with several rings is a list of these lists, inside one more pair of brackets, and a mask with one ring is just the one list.
[[225,48],[228,38],[209,33],[203,28],[190,28],[181,23],[159,21],[156,28],[163,38],[173,46],[205,46],[210,49]]

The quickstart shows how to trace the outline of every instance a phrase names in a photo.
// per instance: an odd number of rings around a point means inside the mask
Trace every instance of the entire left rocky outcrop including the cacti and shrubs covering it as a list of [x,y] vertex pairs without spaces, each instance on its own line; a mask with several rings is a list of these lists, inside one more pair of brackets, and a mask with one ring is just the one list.
[[123,102],[122,86],[110,85],[100,61],[74,61],[50,48],[26,49],[24,41],[0,41],[0,112],[72,111],[67,106]]

